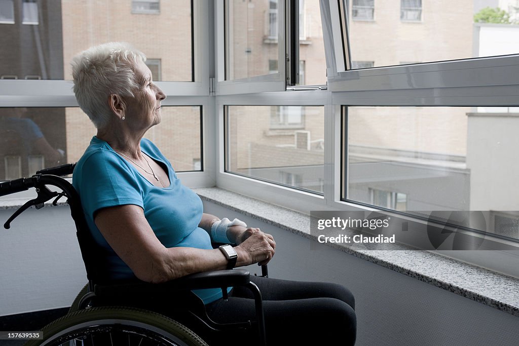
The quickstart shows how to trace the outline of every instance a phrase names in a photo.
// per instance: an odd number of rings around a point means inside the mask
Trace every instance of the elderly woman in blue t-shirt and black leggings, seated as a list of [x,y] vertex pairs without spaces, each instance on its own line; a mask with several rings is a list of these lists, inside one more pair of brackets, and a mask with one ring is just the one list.
[[[203,213],[200,198],[143,138],[160,123],[166,98],[145,59],[128,44],[110,43],[81,52],[72,63],[77,101],[97,128],[76,165],[73,185],[92,236],[103,249],[99,256],[107,280],[136,277],[160,283],[190,273],[266,264],[276,250],[274,238],[238,219]],[[211,241],[237,246],[213,249]],[[346,288],[252,279],[265,300],[269,344],[332,344],[337,332],[340,344],[354,343],[354,299]],[[195,293],[218,322],[254,319],[249,293],[240,287],[229,290],[228,301],[221,289]]]

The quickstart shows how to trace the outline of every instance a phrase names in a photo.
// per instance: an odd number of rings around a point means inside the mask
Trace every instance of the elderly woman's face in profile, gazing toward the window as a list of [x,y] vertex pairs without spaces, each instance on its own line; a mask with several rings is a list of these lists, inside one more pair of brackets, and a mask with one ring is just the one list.
[[160,122],[160,102],[166,95],[153,83],[152,72],[142,61],[135,66],[135,80],[139,88],[134,98],[126,100],[125,118],[132,127],[147,130]]

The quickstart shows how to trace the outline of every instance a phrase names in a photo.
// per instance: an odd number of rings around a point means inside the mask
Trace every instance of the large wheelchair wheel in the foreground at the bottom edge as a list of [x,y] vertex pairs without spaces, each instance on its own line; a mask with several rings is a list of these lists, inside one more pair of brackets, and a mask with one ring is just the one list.
[[207,346],[193,331],[155,312],[102,307],[67,314],[42,329],[43,340],[25,345]]

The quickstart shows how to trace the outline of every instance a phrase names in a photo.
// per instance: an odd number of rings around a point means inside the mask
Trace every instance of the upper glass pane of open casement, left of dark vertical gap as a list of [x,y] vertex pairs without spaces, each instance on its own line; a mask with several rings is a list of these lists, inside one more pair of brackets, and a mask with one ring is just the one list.
[[227,0],[225,37],[226,80],[277,73],[278,1]]

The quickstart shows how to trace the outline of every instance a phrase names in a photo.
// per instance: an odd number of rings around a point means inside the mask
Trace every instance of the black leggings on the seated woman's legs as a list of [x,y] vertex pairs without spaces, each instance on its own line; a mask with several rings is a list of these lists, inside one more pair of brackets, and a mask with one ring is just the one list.
[[[268,345],[353,345],[357,319],[351,292],[340,285],[251,276],[261,290]],[[207,305],[216,322],[255,320],[254,298],[248,288],[235,287],[229,299]],[[252,337],[255,337],[253,335]],[[253,344],[229,335],[224,344]]]

